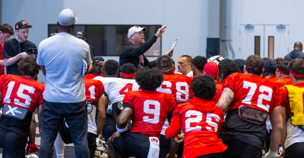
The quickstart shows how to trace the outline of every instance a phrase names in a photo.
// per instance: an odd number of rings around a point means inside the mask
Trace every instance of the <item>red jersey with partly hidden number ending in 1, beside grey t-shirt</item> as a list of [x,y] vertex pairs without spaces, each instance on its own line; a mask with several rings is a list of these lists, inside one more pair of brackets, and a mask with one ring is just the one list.
[[98,101],[98,99],[105,93],[105,88],[99,80],[83,79],[86,92],[87,101]]

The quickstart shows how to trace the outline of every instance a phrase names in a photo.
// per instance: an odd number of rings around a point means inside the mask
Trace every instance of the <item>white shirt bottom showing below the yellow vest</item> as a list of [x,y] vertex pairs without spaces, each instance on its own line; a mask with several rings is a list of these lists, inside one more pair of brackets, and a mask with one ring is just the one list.
[[287,119],[286,128],[285,148],[294,143],[304,142],[304,130],[301,130],[298,126],[293,126],[290,117]]

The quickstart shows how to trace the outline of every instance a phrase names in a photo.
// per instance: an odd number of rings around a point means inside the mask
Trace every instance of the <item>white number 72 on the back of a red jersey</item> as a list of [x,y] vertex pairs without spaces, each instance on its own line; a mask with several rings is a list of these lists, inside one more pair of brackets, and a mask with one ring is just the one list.
[[[247,96],[245,97],[245,99],[242,100],[242,103],[251,105],[252,97],[257,90],[257,84],[248,82],[248,81],[244,81],[243,88],[249,89],[249,92],[248,92]],[[267,112],[269,112],[270,105],[268,105],[268,104],[263,105],[262,102],[263,102],[263,100],[271,101],[272,89],[262,85],[259,87],[259,92],[261,92],[261,94],[257,97],[257,107],[262,108],[262,109],[266,110]],[[263,94],[264,92],[267,92],[268,94],[267,95]]]

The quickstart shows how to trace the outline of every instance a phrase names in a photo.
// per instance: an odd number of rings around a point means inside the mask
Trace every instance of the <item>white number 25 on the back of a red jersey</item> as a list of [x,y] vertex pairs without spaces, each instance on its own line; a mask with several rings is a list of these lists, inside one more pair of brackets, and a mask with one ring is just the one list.
[[[205,127],[205,130],[217,132],[218,124],[221,120],[220,117],[214,113],[207,113],[204,115],[206,115],[204,117],[206,117],[206,123],[208,124]],[[191,117],[191,116],[196,116],[196,117]],[[196,110],[188,110],[185,114],[185,117],[188,117],[185,121],[186,132],[189,132],[192,130],[202,130],[202,126],[199,126],[199,125],[191,126],[191,123],[200,123],[201,121],[203,121],[202,112],[196,111]],[[212,118],[213,118],[213,120],[212,120]]]

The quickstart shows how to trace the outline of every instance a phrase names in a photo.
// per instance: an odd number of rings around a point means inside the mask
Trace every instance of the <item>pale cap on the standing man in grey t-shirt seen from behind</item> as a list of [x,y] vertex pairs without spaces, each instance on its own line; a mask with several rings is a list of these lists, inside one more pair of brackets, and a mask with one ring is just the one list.
[[73,25],[76,20],[77,20],[77,17],[75,15],[74,11],[72,11],[70,9],[64,9],[58,15],[58,23],[60,25],[70,26],[70,25]]

